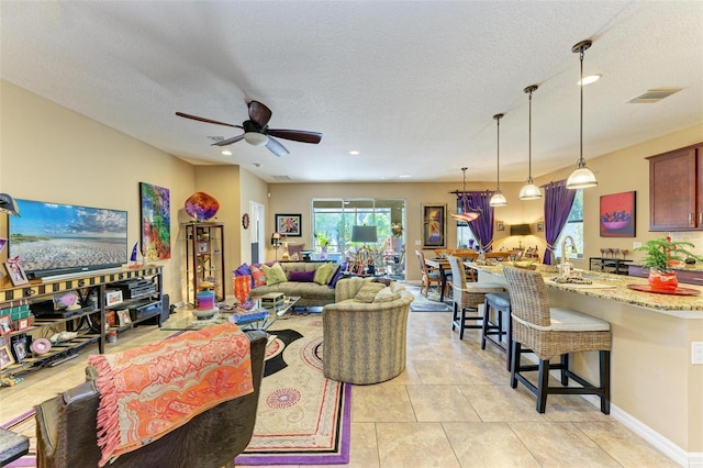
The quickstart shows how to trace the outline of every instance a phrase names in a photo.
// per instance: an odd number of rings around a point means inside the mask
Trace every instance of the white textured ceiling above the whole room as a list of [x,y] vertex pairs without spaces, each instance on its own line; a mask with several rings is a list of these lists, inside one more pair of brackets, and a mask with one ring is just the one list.
[[[703,122],[701,1],[2,1],[0,74],[178,157],[239,164],[279,181],[494,181],[576,164],[579,56],[583,152],[591,157]],[[654,104],[649,89],[681,91]],[[276,157],[238,129],[246,100],[275,129],[323,133],[279,140]],[[41,134],[41,129],[37,129]],[[703,135],[702,135],[703,136]],[[352,156],[349,151],[360,154]],[[410,179],[400,179],[410,176]],[[489,183],[490,186],[490,183]]]

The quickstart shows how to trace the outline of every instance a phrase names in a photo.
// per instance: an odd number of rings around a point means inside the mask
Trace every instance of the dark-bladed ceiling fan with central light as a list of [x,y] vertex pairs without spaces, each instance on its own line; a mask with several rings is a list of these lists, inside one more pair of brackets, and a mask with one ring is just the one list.
[[242,123],[242,125],[234,125],[225,122],[217,122],[216,120],[210,120],[205,118],[201,118],[198,115],[190,115],[183,112],[176,112],[176,115],[198,120],[200,122],[205,123],[214,123],[217,125],[226,125],[233,126],[235,129],[244,130],[243,135],[234,136],[232,138],[223,140],[222,142],[213,143],[213,146],[227,146],[233,143],[236,143],[241,140],[246,141],[248,144],[254,146],[264,146],[274,153],[276,156],[282,156],[290,154],[288,149],[283,145],[281,145],[276,140],[271,138],[271,136],[277,136],[279,138],[292,140],[294,142],[302,143],[314,143],[317,144],[322,140],[322,133],[317,132],[306,132],[304,130],[280,130],[280,129],[269,129],[268,121],[271,119],[271,110],[260,103],[259,101],[249,101],[247,103],[249,109],[249,120],[246,120]]

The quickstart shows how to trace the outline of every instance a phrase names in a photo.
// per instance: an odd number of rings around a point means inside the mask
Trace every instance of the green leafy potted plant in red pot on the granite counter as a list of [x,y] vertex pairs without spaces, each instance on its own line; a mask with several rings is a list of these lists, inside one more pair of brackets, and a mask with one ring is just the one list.
[[647,241],[635,252],[645,252],[641,266],[649,268],[649,286],[652,289],[674,290],[679,286],[679,280],[673,267],[683,264],[688,258],[702,258],[691,250],[694,245],[687,241],[672,241],[671,237],[655,238]]

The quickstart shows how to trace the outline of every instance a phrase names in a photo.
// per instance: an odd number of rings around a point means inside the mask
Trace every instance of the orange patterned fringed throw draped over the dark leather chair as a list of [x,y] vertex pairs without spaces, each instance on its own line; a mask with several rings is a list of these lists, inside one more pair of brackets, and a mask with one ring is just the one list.
[[233,323],[88,358],[98,370],[99,466],[223,401],[254,391],[249,341]]

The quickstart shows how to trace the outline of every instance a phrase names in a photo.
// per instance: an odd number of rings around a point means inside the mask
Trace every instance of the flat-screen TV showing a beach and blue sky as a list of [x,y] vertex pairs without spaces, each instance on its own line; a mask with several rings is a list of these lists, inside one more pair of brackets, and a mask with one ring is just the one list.
[[120,267],[127,263],[127,212],[15,199],[8,216],[9,256],[29,278]]

